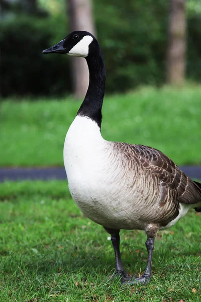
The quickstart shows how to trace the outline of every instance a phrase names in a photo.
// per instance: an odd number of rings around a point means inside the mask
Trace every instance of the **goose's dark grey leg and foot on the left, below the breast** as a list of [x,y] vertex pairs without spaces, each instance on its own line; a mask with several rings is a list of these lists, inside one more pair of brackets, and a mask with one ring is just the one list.
[[104,229],[111,235],[111,241],[115,251],[116,275],[119,275],[121,277],[121,282],[124,283],[125,281],[128,281],[131,278],[128,276],[122,264],[122,259],[120,254],[120,235],[119,235],[120,230],[113,230],[108,228],[104,228]]

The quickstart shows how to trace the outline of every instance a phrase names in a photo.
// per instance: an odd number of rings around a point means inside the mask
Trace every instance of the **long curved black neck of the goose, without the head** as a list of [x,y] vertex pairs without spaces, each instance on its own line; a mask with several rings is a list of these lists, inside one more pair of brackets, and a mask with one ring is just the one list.
[[99,46],[96,54],[88,55],[86,61],[89,70],[89,85],[77,114],[88,116],[101,127],[102,105],[106,87],[106,68],[103,53]]

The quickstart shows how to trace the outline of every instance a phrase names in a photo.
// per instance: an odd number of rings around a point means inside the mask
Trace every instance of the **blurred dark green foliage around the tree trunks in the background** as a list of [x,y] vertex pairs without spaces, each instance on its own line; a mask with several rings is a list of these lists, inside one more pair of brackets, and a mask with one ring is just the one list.
[[[11,8],[0,22],[2,96],[72,93],[70,60],[62,55],[42,56],[43,49],[70,31],[68,2],[38,0],[37,12],[28,13],[20,6],[22,1],[25,0],[10,2]],[[96,34],[106,61],[107,93],[122,93],[141,85],[163,85],[169,1],[95,0],[92,5]],[[199,0],[186,2],[186,21],[186,79],[200,82]]]

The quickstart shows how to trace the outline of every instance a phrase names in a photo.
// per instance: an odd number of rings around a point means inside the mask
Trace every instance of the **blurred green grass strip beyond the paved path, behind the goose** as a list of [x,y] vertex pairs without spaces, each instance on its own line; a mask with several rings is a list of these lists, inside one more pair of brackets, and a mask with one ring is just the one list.
[[[201,164],[201,87],[143,88],[106,97],[105,139],[151,145],[177,165]],[[1,105],[0,166],[63,166],[63,143],[80,106],[73,99]]]

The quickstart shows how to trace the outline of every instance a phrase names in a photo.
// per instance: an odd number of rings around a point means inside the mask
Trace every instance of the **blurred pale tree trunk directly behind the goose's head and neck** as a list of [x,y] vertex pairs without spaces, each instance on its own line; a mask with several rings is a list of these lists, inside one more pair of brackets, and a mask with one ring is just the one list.
[[[70,30],[84,30],[95,35],[90,0],[68,0]],[[89,82],[88,66],[83,58],[72,57],[73,94],[83,98]]]

